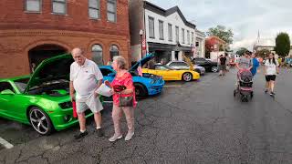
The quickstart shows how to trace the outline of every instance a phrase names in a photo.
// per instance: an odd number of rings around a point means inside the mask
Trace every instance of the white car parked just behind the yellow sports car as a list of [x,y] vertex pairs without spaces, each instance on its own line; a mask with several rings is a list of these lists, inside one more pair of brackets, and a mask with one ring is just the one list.
[[[166,64],[166,66],[172,67],[172,68],[177,69],[177,70],[189,70],[190,69],[190,66],[184,61],[170,61],[168,64]],[[205,71],[206,71],[204,67],[200,67],[198,65],[194,65],[193,70],[196,71],[197,73],[199,73],[200,75],[204,75]]]

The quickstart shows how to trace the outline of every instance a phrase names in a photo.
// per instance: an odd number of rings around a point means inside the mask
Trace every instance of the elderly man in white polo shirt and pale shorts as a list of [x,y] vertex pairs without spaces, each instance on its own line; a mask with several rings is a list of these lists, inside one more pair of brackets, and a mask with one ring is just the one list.
[[75,62],[70,67],[70,97],[72,101],[76,100],[80,126],[80,131],[74,137],[78,139],[88,135],[84,114],[88,108],[94,113],[96,132],[99,137],[102,137],[100,111],[103,107],[99,101],[99,95],[95,92],[102,84],[102,74],[97,64],[83,56],[80,48],[74,48],[71,54]]

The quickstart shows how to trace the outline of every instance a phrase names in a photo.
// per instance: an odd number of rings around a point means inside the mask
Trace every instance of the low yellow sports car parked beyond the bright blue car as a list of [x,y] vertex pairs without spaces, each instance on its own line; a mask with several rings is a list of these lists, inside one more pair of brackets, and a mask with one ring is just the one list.
[[176,70],[164,65],[155,65],[154,69],[143,68],[142,73],[153,74],[162,76],[166,80],[183,80],[192,81],[193,79],[199,79],[200,74],[192,70]]

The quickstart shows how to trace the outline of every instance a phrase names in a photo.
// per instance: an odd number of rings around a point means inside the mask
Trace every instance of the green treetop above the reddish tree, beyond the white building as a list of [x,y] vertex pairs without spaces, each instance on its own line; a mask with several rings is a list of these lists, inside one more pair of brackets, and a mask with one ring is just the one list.
[[233,43],[234,33],[231,29],[226,29],[225,26],[216,26],[209,28],[207,36],[217,36],[224,40],[228,45]]

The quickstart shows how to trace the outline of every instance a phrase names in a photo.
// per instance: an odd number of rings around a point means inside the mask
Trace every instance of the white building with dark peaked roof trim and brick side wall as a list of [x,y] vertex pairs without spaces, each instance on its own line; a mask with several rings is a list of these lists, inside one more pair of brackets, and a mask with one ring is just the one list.
[[[140,12],[143,13],[142,17],[139,15]],[[139,30],[143,31],[140,42],[137,39],[140,37],[137,35]],[[156,62],[162,64],[183,60],[183,54],[188,57],[196,56],[196,48],[193,48],[197,38],[196,26],[186,21],[178,6],[164,10],[147,1],[131,0],[130,32],[133,61],[141,58],[142,39],[145,39],[146,45],[143,56],[146,52],[155,53]],[[204,39],[200,40],[200,46],[204,49],[203,42]],[[200,50],[200,54],[203,53],[203,49]]]

